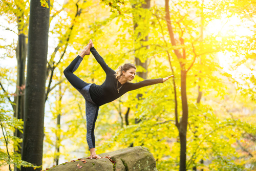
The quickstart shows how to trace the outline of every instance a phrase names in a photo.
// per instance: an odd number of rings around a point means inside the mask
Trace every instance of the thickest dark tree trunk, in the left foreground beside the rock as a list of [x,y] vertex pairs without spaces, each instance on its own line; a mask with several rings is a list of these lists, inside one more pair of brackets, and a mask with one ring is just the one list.
[[[50,4],[50,1],[48,1]],[[30,2],[22,160],[42,165],[50,9]],[[22,171],[41,168],[22,167]]]

